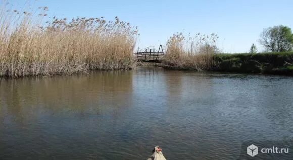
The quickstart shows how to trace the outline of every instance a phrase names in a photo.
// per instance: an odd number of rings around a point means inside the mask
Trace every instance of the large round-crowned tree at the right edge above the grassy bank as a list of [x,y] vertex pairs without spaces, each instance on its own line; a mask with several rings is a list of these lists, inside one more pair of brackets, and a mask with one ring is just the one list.
[[263,30],[259,42],[267,51],[289,51],[293,47],[293,34],[287,26],[269,27]]

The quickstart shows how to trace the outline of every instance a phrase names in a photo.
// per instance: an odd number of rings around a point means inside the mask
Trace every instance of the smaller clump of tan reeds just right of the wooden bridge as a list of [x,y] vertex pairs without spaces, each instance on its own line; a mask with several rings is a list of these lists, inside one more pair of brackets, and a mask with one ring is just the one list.
[[196,34],[194,37],[174,34],[167,42],[163,66],[176,69],[209,70],[218,48],[218,36]]

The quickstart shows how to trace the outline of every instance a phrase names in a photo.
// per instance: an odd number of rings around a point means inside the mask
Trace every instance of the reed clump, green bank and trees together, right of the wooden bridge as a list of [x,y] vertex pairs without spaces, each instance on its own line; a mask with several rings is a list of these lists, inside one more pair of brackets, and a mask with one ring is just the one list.
[[263,30],[259,41],[269,51],[266,53],[257,53],[256,45],[252,44],[250,53],[223,54],[216,47],[217,39],[215,34],[197,34],[195,38],[175,34],[167,42],[163,66],[175,69],[293,75],[293,34],[287,26],[279,25]]

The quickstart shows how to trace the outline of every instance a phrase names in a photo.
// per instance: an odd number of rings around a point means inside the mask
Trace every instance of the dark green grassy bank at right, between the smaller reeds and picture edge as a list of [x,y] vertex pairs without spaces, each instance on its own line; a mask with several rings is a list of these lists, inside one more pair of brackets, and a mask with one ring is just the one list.
[[293,75],[293,52],[215,54],[211,70]]

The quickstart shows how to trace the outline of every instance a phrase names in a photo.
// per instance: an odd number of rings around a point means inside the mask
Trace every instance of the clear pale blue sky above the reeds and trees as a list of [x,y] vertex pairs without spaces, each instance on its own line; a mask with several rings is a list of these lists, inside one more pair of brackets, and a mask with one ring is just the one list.
[[[3,0],[0,0],[3,1]],[[24,8],[25,0],[11,0],[13,8]],[[34,7],[48,7],[48,15],[59,18],[102,17],[138,26],[137,46],[145,48],[162,43],[176,32],[185,34],[216,33],[217,46],[225,53],[248,52],[258,43],[264,28],[285,25],[293,28],[291,0],[193,0],[193,1],[93,1],[32,0]]]

